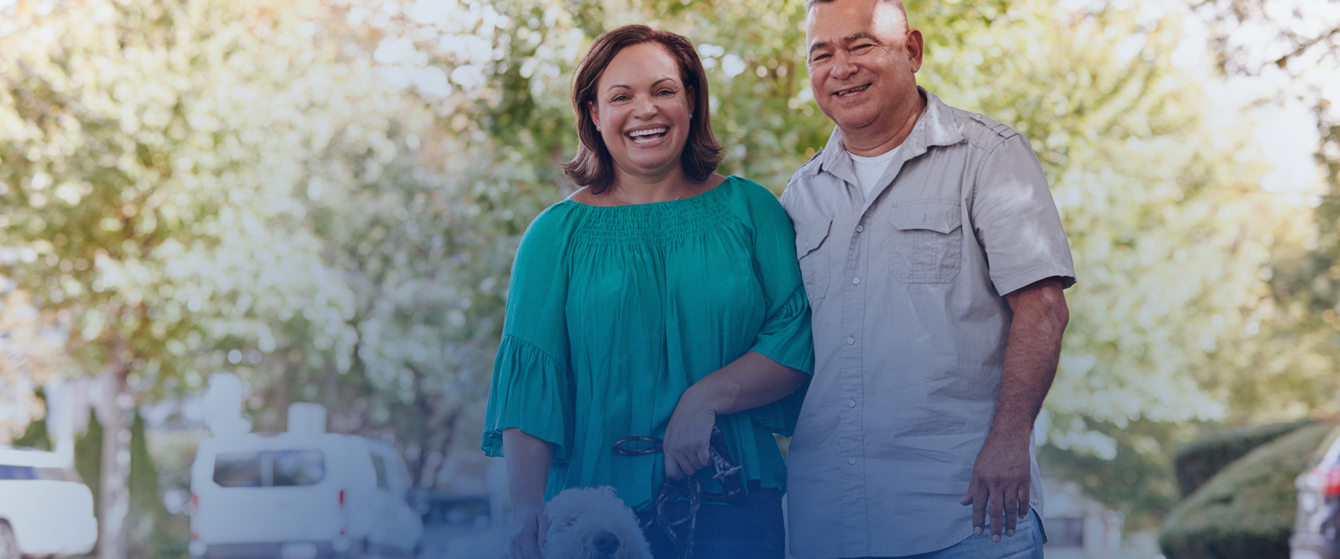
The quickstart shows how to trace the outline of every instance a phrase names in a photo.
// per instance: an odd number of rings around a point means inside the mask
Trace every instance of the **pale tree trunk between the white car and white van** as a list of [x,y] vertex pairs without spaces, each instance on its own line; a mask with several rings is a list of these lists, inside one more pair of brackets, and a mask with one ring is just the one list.
[[130,428],[126,412],[133,397],[126,385],[130,365],[121,362],[125,343],[114,343],[113,365],[105,373],[102,418],[102,487],[98,499],[98,559],[126,559],[126,520],[130,516]]

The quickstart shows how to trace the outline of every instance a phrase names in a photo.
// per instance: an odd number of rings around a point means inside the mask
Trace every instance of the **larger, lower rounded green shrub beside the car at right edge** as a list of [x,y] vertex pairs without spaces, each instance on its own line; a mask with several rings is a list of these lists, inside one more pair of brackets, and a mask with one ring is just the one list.
[[1168,559],[1288,558],[1297,507],[1293,480],[1332,425],[1309,425],[1261,445],[1178,504],[1159,546]]

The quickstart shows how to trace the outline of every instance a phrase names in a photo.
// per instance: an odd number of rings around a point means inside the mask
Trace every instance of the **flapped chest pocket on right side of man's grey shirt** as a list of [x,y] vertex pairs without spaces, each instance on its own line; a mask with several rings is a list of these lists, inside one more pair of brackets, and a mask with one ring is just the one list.
[[962,265],[962,214],[953,200],[894,205],[890,265],[902,283],[950,283]]

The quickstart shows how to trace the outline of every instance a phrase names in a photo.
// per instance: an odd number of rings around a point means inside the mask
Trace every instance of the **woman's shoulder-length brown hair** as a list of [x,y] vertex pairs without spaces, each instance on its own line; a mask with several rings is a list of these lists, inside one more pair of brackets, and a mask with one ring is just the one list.
[[708,178],[721,165],[721,143],[712,135],[712,121],[708,117],[708,72],[702,70],[698,51],[689,39],[669,31],[653,29],[647,25],[623,25],[606,31],[595,38],[591,50],[572,75],[572,110],[578,115],[578,156],[563,164],[563,173],[579,186],[587,186],[592,194],[608,190],[614,184],[614,161],[606,147],[600,131],[591,122],[590,106],[595,103],[596,84],[619,51],[642,43],[658,43],[675,59],[679,78],[685,87],[691,87],[694,103],[693,118],[689,119],[689,141],[683,145],[679,161],[683,173],[695,181]]

